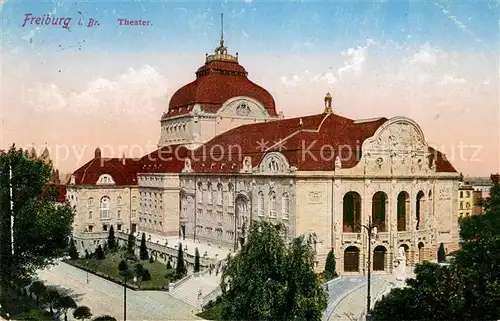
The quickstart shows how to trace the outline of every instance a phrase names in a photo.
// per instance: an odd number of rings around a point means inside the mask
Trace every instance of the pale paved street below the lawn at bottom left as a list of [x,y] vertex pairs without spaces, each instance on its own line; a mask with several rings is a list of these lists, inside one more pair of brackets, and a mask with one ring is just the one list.
[[[109,314],[123,320],[123,287],[65,263],[41,271],[47,285],[69,289],[78,305],[86,305],[94,316]],[[70,313],[69,320],[73,320]],[[127,320],[201,320],[193,308],[168,292],[132,291],[127,289]]]

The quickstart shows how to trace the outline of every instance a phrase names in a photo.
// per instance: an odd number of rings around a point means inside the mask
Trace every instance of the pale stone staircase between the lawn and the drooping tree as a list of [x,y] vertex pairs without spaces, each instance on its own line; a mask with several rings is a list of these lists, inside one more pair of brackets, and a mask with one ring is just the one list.
[[[216,276],[215,272],[212,275],[194,275],[172,289],[170,294],[193,307],[201,308],[203,298],[219,286],[220,279],[221,274]],[[201,297],[198,296],[200,290]]]

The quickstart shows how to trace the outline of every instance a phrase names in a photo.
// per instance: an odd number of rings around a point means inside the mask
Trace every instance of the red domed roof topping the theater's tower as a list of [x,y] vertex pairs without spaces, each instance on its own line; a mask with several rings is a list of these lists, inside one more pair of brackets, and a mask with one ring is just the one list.
[[271,116],[277,116],[273,96],[247,78],[237,62],[211,61],[196,72],[196,80],[177,90],[163,118],[190,112],[195,104],[207,112],[216,112],[228,99],[246,96],[258,100]]

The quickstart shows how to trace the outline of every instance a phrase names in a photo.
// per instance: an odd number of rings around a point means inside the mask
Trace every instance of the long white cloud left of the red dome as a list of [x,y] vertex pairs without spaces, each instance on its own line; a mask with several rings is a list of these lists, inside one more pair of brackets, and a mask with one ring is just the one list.
[[145,65],[129,69],[114,79],[97,78],[83,92],[68,92],[55,84],[30,89],[28,103],[38,112],[71,111],[79,114],[133,114],[155,110],[154,103],[166,94],[165,78]]

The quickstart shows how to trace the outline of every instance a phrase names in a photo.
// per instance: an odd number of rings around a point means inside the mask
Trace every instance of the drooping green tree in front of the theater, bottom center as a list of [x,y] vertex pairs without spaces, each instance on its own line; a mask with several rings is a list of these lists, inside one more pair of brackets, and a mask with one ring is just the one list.
[[223,320],[321,320],[327,296],[314,272],[314,236],[287,246],[282,225],[253,222],[222,273]]

